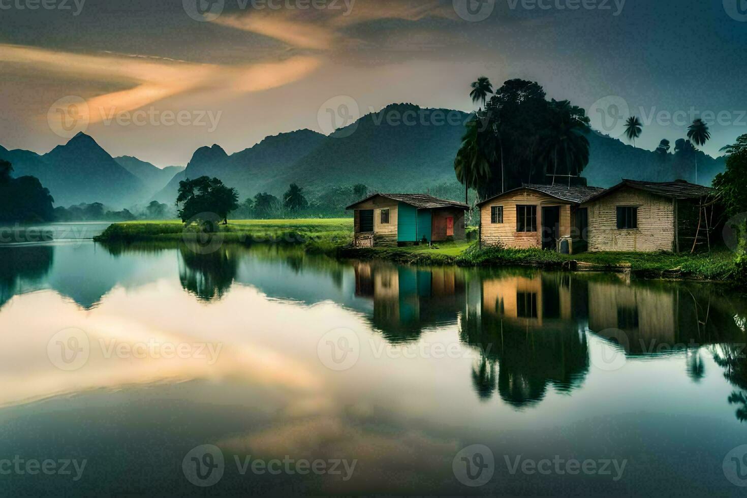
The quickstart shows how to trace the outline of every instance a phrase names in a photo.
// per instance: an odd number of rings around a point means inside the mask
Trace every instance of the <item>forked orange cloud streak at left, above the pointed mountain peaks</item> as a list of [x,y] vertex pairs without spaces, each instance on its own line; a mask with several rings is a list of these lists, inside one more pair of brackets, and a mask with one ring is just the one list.
[[84,55],[6,44],[0,44],[0,62],[128,87],[88,98],[90,123],[190,91],[215,89],[222,94],[238,94],[282,87],[304,78],[320,65],[320,60],[310,55],[232,66],[137,55]]

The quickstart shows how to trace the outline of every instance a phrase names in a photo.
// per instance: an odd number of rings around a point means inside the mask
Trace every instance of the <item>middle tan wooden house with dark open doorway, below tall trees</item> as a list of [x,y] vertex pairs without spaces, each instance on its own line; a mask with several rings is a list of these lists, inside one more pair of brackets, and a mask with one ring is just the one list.
[[598,187],[539,184],[508,190],[477,204],[480,240],[520,249],[583,251],[586,217],[579,206],[602,192]]

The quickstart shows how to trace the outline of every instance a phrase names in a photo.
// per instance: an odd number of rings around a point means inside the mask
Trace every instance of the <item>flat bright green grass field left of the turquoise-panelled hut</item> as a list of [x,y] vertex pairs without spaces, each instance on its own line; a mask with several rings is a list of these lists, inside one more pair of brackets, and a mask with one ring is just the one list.
[[[220,225],[218,233],[226,243],[303,244],[310,252],[334,252],[350,243],[352,219],[314,220],[232,220]],[[123,222],[110,225],[97,242],[190,241],[201,237],[196,225],[178,220]]]

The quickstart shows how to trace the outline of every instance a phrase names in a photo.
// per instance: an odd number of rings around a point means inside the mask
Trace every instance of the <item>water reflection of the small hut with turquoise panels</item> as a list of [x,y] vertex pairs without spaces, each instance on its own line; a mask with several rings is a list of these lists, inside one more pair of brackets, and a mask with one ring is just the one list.
[[464,273],[457,267],[395,267],[358,261],[356,296],[373,298],[373,326],[391,343],[418,340],[429,327],[456,323],[465,306]]

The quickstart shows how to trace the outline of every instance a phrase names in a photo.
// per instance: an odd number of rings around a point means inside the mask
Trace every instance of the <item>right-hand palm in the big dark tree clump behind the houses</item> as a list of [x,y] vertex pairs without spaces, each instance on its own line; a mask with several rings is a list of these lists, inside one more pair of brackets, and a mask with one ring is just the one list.
[[561,171],[567,172],[568,186],[571,176],[580,175],[589,164],[589,117],[586,111],[567,100],[549,105],[550,117],[545,131],[539,137],[539,160],[545,164],[545,171],[553,166],[553,184],[560,164]]

